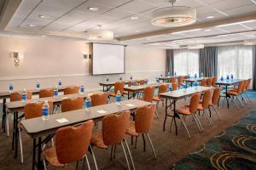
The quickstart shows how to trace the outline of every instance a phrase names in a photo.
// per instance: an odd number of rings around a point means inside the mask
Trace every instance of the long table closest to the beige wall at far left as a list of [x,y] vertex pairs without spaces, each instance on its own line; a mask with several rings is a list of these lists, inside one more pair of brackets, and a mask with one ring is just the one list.
[[[63,92],[65,88],[70,88],[73,86],[61,86],[58,87],[58,91],[59,92]],[[55,88],[55,87],[52,87]],[[27,92],[32,92],[33,95],[37,95],[39,94],[40,89],[44,89],[44,88],[34,88],[34,89],[26,89]],[[18,90],[18,91],[14,91],[14,92],[20,92],[22,93],[22,90]],[[3,99],[3,119],[5,119],[5,115],[6,115],[6,107],[5,107],[5,103],[6,103],[6,99],[9,99],[9,95],[11,93],[9,91],[5,91],[5,92],[0,92],[0,99]],[[2,128],[3,128],[3,133],[5,133],[5,122],[2,121]]]

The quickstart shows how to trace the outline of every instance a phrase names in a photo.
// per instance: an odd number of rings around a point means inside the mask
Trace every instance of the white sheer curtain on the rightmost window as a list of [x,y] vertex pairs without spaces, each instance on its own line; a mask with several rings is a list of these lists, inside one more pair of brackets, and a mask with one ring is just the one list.
[[244,45],[218,47],[218,77],[253,77],[252,50],[252,46]]

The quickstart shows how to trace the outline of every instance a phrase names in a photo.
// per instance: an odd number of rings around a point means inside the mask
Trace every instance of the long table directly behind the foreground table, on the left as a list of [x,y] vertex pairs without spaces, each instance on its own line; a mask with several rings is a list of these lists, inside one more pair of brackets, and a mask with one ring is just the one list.
[[58,95],[55,97],[48,97],[48,98],[38,98],[38,99],[28,99],[26,102],[23,101],[13,101],[13,102],[7,102],[5,103],[5,107],[7,109],[6,114],[14,114],[14,128],[13,128],[13,143],[12,143],[12,149],[15,149],[15,157],[17,157],[17,150],[18,150],[18,120],[21,117],[19,117],[19,111],[23,111],[24,107],[27,103],[35,103],[39,101],[52,101],[54,105],[61,104],[61,101],[63,99],[72,99],[77,97],[83,97],[84,99],[87,98],[91,94],[101,94],[101,91],[91,91],[91,92],[84,92],[84,94],[67,94],[67,95]]

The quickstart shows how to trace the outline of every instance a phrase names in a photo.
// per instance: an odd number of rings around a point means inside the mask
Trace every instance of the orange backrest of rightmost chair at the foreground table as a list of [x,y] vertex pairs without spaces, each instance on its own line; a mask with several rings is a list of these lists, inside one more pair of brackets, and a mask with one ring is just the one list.
[[156,105],[137,108],[135,117],[135,129],[137,133],[147,133],[154,120]]

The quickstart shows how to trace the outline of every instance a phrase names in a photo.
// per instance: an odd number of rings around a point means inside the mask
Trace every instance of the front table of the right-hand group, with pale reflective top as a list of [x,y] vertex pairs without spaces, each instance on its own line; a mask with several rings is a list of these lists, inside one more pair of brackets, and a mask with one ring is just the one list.
[[[163,125],[163,130],[166,130],[166,118],[167,116],[171,116],[174,120],[175,124],[175,134],[177,135],[177,122],[176,117],[180,119],[180,116],[176,112],[176,103],[178,99],[184,99],[185,97],[191,96],[192,94],[202,93],[207,90],[213,90],[214,87],[204,87],[204,86],[197,86],[197,87],[189,87],[189,88],[183,88],[179,90],[175,90],[172,92],[166,92],[163,94],[159,94],[161,98],[166,99],[166,117]],[[168,100],[172,100],[172,103],[170,105],[167,104]],[[173,115],[168,114],[168,108],[172,107],[173,105]]]

